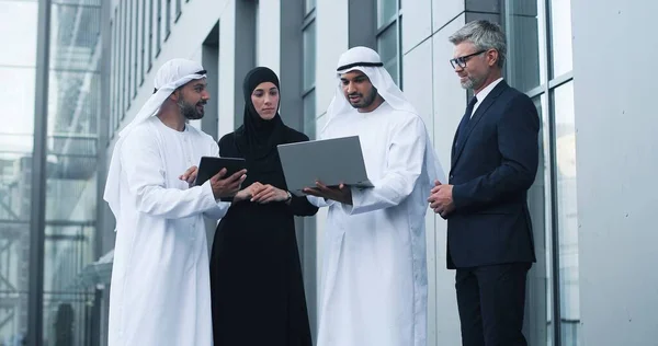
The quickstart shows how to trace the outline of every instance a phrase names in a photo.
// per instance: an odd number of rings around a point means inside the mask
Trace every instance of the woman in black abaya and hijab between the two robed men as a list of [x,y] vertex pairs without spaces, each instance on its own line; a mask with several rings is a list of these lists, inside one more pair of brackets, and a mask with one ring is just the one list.
[[219,140],[220,157],[246,159],[247,178],[213,242],[215,346],[310,346],[294,216],[318,209],[286,191],[276,150],[308,137],[281,120],[272,70],[251,70],[242,92],[243,125]]

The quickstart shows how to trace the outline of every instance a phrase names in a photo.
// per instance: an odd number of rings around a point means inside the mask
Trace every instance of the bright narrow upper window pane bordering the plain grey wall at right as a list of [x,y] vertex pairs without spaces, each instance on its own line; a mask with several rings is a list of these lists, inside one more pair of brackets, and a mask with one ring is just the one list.
[[551,0],[551,49],[553,77],[571,71],[571,1]]

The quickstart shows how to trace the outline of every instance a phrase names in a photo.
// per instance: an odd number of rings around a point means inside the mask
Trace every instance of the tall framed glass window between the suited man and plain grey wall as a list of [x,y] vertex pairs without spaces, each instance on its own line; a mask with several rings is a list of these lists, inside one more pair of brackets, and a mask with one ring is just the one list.
[[551,116],[542,115],[540,166],[529,192],[537,263],[529,274],[525,334],[529,345],[580,345],[574,82],[547,85],[571,71],[570,0],[506,0],[504,5],[506,78],[535,96],[541,115],[551,109]]

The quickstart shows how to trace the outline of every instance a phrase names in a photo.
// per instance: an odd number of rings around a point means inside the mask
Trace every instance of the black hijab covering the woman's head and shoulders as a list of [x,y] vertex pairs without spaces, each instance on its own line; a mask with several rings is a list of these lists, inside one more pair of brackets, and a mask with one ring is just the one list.
[[236,146],[247,159],[248,168],[271,172],[281,165],[276,146],[285,142],[286,131],[279,115],[279,105],[276,105],[276,114],[270,120],[261,118],[253,107],[251,94],[256,86],[264,82],[272,82],[280,89],[276,73],[266,67],[257,67],[245,77],[242,84],[245,115],[242,126],[236,130]]

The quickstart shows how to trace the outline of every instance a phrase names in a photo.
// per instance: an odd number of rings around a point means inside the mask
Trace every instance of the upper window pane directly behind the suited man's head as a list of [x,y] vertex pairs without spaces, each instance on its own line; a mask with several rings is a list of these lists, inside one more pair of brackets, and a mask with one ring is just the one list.
[[506,0],[508,38],[507,80],[527,92],[546,81],[543,0]]

